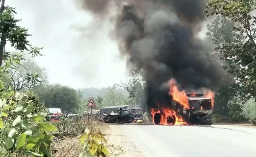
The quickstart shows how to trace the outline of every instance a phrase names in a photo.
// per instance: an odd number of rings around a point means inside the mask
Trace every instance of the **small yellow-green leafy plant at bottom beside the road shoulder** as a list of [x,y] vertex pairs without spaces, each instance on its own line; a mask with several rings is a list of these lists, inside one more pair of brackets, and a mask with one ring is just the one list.
[[78,136],[80,143],[83,145],[83,152],[79,157],[87,156],[102,156],[110,155],[107,148],[107,140],[105,135],[101,133],[100,129],[85,129],[84,134]]

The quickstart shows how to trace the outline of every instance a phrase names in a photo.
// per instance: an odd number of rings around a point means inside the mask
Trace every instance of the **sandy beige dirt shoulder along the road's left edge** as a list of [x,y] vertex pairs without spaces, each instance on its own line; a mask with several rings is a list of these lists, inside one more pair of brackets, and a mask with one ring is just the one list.
[[103,131],[107,134],[109,149],[112,151],[112,156],[118,157],[145,157],[142,152],[137,150],[136,145],[127,137],[125,130],[118,125],[106,125],[108,129]]

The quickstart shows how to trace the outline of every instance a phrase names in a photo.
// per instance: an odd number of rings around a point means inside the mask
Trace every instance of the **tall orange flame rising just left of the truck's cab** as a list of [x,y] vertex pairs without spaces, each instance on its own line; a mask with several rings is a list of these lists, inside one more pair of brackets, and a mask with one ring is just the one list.
[[178,101],[184,108],[189,109],[188,96],[184,90],[180,91],[178,85],[174,79],[169,81],[170,91],[169,94],[172,95],[172,99]]

